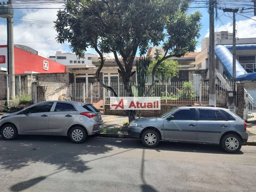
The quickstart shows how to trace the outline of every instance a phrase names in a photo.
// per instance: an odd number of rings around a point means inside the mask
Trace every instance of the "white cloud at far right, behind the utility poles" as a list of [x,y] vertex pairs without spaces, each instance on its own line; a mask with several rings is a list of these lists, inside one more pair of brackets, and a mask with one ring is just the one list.
[[[252,19],[256,19],[256,16],[251,17]],[[236,30],[238,38],[256,38],[256,22],[252,19],[245,19],[236,21]],[[228,22],[225,26],[215,26],[214,31],[229,31],[230,33],[233,32],[233,23]],[[209,29],[205,37],[209,37]]]

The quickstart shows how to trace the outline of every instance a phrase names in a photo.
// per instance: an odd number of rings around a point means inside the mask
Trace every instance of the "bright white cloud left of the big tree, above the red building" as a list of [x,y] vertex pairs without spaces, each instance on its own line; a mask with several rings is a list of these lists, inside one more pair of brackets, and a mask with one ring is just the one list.
[[[62,5],[63,4],[47,4],[33,5],[33,7],[60,8]],[[17,4],[14,6],[17,6]],[[14,44],[29,46],[45,56],[55,55],[55,51],[57,50],[70,52],[67,43],[61,45],[55,40],[57,32],[54,29],[54,23],[51,24],[51,22],[56,20],[57,10],[58,9],[22,9],[22,13],[24,14],[22,19],[19,19],[17,18],[18,16],[14,15]],[[49,22],[46,24],[45,21]],[[1,24],[0,29],[3,29],[0,31],[0,39],[4,40],[0,41],[0,44],[7,44],[6,25]]]

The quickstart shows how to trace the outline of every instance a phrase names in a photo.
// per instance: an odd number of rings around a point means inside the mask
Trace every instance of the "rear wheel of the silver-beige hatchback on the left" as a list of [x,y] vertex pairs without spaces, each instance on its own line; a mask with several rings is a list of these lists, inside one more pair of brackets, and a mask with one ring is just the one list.
[[87,132],[82,127],[73,127],[70,129],[68,137],[73,143],[83,143],[87,139]]

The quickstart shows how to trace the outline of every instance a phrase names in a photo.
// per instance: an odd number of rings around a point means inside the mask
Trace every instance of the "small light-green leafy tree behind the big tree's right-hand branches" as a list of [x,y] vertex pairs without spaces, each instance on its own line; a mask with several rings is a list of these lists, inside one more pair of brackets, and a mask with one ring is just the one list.
[[[160,57],[162,59],[162,56]],[[154,66],[156,65],[157,60],[154,60],[149,65],[149,74],[152,73]],[[172,79],[173,77],[179,76],[179,64],[178,61],[173,60],[164,60],[160,63],[158,69],[155,73],[156,77],[162,82],[166,83],[169,81],[169,79]]]

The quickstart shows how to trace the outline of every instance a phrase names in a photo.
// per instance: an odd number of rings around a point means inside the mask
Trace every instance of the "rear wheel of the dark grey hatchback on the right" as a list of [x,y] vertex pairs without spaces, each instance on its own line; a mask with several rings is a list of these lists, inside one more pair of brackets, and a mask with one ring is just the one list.
[[242,147],[242,141],[235,134],[227,134],[221,139],[221,147],[228,153],[237,153]]

